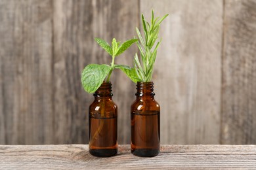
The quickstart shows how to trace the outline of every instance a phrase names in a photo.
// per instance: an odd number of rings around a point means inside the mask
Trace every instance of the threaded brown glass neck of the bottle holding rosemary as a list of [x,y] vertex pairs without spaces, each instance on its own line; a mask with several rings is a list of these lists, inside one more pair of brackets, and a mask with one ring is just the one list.
[[154,99],[154,83],[153,82],[137,82],[137,98],[151,97]]

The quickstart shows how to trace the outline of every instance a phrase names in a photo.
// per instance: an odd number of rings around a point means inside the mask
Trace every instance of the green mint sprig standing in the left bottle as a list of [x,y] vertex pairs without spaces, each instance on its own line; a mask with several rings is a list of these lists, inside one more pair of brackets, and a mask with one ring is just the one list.
[[108,44],[108,42],[104,41],[103,39],[95,38],[95,41],[100,45],[110,56],[112,56],[112,63],[111,65],[98,65],[98,64],[90,64],[87,65],[82,72],[81,75],[81,83],[83,88],[88,93],[95,92],[104,79],[106,78],[106,82],[110,81],[110,76],[112,75],[112,71],[116,69],[121,69],[124,73],[127,74],[129,77],[133,77],[133,73],[135,73],[133,69],[129,68],[125,65],[115,65],[115,58],[119,56],[125,50],[127,50],[134,42],[137,42],[137,39],[130,39],[128,41],[123,42],[120,45],[120,42],[117,42],[116,39],[112,40],[112,43]]

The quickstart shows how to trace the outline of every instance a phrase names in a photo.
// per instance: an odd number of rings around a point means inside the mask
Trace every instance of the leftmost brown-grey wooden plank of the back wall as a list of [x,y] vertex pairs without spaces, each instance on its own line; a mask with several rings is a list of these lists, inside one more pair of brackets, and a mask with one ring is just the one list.
[[0,2],[0,143],[51,143],[51,1]]

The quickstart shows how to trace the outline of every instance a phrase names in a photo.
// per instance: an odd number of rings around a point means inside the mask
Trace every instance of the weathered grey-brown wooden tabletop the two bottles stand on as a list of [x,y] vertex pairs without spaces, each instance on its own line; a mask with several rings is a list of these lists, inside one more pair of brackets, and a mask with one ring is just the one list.
[[0,145],[0,169],[256,169],[256,145],[162,145],[153,158],[96,158],[87,144]]

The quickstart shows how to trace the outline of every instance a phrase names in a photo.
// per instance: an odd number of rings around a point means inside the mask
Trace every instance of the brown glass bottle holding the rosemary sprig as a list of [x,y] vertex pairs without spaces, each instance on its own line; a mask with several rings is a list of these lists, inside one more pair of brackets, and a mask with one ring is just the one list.
[[131,152],[157,156],[160,152],[160,105],[154,99],[154,83],[138,82],[137,99],[131,105]]

